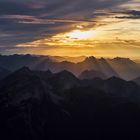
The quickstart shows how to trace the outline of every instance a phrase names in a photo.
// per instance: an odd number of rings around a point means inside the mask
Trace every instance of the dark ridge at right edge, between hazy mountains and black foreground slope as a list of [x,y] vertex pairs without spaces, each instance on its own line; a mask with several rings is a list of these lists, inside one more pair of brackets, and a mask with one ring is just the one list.
[[83,85],[90,85],[108,93],[111,96],[125,97],[140,105],[140,86],[134,82],[127,82],[116,77],[111,77],[107,80],[95,78],[93,80],[84,80],[83,82]]

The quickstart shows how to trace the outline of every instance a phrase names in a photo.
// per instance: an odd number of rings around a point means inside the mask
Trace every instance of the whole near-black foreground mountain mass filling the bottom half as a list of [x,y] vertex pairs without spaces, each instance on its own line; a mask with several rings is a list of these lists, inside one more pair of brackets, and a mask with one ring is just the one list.
[[23,67],[0,82],[0,133],[17,140],[134,139],[139,102],[133,82],[79,80],[67,71]]

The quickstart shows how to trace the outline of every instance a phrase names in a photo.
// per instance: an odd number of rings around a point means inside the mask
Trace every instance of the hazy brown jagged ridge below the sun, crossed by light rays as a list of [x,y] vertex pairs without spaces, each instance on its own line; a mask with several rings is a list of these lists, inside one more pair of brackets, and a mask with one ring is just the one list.
[[86,58],[84,61],[79,63],[72,63],[63,61],[60,63],[51,63],[48,66],[52,72],[60,72],[67,70],[72,72],[77,77],[86,70],[95,70],[99,73],[103,73],[107,78],[112,76],[117,76],[118,74],[112,69],[112,67],[107,63],[106,60],[98,60],[95,57]]

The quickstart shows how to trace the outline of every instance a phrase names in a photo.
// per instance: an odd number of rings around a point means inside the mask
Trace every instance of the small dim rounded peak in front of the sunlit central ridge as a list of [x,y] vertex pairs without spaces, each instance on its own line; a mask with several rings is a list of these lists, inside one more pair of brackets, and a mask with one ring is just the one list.
[[94,79],[94,78],[101,78],[106,79],[107,77],[105,74],[95,71],[95,70],[86,70],[79,75],[80,79]]

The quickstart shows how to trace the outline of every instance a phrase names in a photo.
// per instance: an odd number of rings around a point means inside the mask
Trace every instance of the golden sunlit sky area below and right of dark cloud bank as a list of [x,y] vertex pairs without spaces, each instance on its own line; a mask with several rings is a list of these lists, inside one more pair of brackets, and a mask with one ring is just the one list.
[[[138,0],[119,5],[118,9],[101,9],[92,12],[89,19],[53,19],[56,26],[32,41],[16,44],[19,50],[35,54],[59,56],[94,55],[103,57],[139,57],[140,54],[140,11]],[[69,20],[68,20],[69,19]],[[72,19],[72,20],[71,20]],[[82,18],[81,18],[82,19]],[[45,21],[48,19],[43,19]],[[93,22],[94,21],[94,22]],[[43,24],[44,25],[44,24]],[[34,51],[33,51],[34,50]]]

